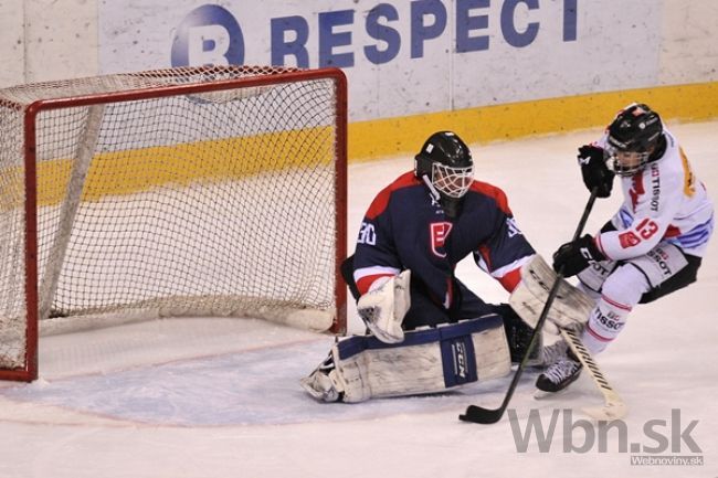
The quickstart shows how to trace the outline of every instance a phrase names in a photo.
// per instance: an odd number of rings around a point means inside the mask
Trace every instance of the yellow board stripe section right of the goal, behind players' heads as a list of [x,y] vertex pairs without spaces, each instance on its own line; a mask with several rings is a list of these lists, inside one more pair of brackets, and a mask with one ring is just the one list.
[[632,102],[648,104],[666,119],[718,117],[718,82],[662,86],[483,106],[455,111],[359,121],[349,125],[349,160],[414,155],[435,131],[453,130],[468,144],[603,128]]

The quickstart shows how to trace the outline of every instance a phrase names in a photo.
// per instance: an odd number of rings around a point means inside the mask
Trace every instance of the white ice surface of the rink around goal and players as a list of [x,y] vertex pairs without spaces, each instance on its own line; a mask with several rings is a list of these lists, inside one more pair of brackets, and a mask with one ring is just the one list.
[[[718,123],[672,130],[715,200]],[[573,158],[595,132],[473,148],[476,177],[507,192],[518,224],[546,257],[571,237],[585,204]],[[411,158],[394,158],[349,168],[350,249],[373,195],[411,166]],[[598,230],[619,202],[599,200],[587,231]],[[469,403],[498,406],[510,378],[451,394],[324,405],[297,382],[331,338],[262,320],[163,319],[43,338],[41,380],[0,384],[0,477],[716,477],[717,265],[714,238],[698,283],[637,307],[598,358],[629,405],[626,449],[616,428],[602,450],[599,428],[587,432],[577,422],[581,407],[601,402],[588,376],[537,401],[536,372],[528,371],[510,413],[490,426],[460,423],[457,415]],[[471,259],[457,276],[486,300],[506,300]],[[361,332],[353,308],[349,315],[350,330]],[[520,444],[536,416],[545,432],[557,418],[545,453],[535,432],[526,450]],[[687,433],[697,453],[680,439],[693,421]],[[661,447],[644,426],[680,450],[631,453],[634,443]],[[700,456],[704,465],[636,466],[632,455]]]

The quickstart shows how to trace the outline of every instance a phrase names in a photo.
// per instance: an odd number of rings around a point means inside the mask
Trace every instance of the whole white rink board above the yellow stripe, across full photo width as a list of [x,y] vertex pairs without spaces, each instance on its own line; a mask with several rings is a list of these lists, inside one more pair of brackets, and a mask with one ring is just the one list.
[[[446,12],[435,38],[432,15],[411,15],[412,8],[432,6]],[[226,11],[224,21],[210,21],[215,36],[228,21],[242,29],[243,55],[229,55],[234,62],[273,63],[271,45],[278,41],[272,40],[272,19],[279,26],[282,19],[291,19],[289,26],[304,23],[306,63],[320,64],[324,41],[325,60],[336,56],[349,76],[352,121],[718,81],[718,2],[707,0],[6,0],[0,86],[166,67],[173,40],[189,38],[187,29],[178,33],[199,7]],[[532,41],[516,46],[535,23]],[[412,56],[420,31],[423,51]],[[196,52],[217,50],[211,32],[197,32]],[[457,53],[460,38],[488,44]],[[284,41],[293,40],[287,31]],[[367,51],[383,60],[372,63]]]

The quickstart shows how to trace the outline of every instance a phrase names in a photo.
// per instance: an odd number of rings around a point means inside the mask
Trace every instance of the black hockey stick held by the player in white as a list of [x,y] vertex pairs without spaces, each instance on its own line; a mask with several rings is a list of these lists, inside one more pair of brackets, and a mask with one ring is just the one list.
[[[593,209],[593,203],[595,202],[596,194],[598,194],[598,188],[593,188],[593,190],[591,191],[591,196],[589,198],[589,202],[585,204],[585,208],[583,209],[583,215],[581,216],[581,220],[579,221],[579,225],[576,229],[576,232],[573,233],[573,241],[578,240],[581,233],[583,232],[585,222],[589,220],[589,214]],[[546,319],[549,315],[549,310],[551,309],[551,304],[553,302],[553,299],[556,298],[556,295],[559,291],[559,285],[561,284],[562,279],[563,279],[563,270],[559,270],[556,275],[556,280],[553,282],[553,285],[551,286],[551,290],[549,291],[549,296],[546,299],[546,304],[543,305],[543,309],[541,310],[541,315],[538,319],[538,322],[536,323],[536,328],[534,329],[534,333],[531,334],[531,340],[529,341],[528,348],[526,349],[526,353],[524,354],[521,362],[518,364],[518,368],[516,369],[516,373],[514,374],[514,379],[511,380],[511,383],[508,386],[508,391],[506,392],[506,396],[504,397],[504,402],[501,402],[501,405],[498,408],[484,408],[478,405],[468,405],[466,412],[464,412],[463,415],[458,415],[458,419],[461,419],[462,422],[472,422],[472,423],[481,423],[481,424],[492,424],[501,419],[501,416],[504,416],[504,412],[506,412],[506,407],[508,406],[508,403],[511,401],[511,397],[514,396],[514,391],[518,385],[518,381],[521,378],[521,373],[524,373],[524,369],[526,369],[526,364],[528,363],[529,355],[531,354],[531,350],[534,349],[536,342],[538,341],[538,338],[541,333],[541,328],[546,322]]]

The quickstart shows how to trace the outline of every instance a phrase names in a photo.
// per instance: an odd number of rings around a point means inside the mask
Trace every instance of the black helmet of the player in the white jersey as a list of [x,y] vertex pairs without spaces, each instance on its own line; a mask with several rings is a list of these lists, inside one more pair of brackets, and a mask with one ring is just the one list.
[[619,176],[632,176],[648,161],[658,158],[665,146],[663,124],[647,105],[632,103],[609,125],[606,153],[609,164]]

